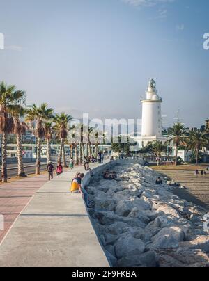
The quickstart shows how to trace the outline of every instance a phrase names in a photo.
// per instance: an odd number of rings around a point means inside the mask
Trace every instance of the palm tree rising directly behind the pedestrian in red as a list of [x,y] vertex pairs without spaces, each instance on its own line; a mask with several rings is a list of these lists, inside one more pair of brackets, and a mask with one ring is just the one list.
[[56,114],[54,115],[54,130],[58,134],[59,138],[61,139],[61,144],[60,144],[60,151],[59,151],[59,156],[58,156],[58,162],[61,163],[61,160],[63,159],[63,166],[66,167],[66,161],[65,161],[65,150],[64,150],[64,145],[65,145],[65,140],[68,136],[68,122],[72,120],[72,116],[61,113],[61,114]]

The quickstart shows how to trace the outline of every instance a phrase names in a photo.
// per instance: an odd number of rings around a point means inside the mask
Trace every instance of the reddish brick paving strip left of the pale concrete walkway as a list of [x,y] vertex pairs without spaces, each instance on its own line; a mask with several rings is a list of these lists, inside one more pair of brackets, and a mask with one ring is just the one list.
[[0,214],[4,216],[4,230],[0,230],[0,243],[17,216],[45,182],[47,182],[47,174],[20,179],[0,186]]

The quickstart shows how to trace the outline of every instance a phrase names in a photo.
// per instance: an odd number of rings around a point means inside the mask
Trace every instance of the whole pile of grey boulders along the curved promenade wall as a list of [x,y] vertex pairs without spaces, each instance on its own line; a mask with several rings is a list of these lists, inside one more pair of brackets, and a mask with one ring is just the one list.
[[173,195],[157,173],[140,165],[116,166],[119,181],[93,179],[87,191],[95,231],[113,266],[206,267],[206,210]]

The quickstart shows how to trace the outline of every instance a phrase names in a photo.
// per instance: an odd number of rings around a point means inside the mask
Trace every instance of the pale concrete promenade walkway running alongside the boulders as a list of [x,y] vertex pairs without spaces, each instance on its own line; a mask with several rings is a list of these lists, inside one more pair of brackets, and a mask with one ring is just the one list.
[[82,195],[69,193],[83,170],[64,172],[36,192],[0,244],[0,266],[109,266]]

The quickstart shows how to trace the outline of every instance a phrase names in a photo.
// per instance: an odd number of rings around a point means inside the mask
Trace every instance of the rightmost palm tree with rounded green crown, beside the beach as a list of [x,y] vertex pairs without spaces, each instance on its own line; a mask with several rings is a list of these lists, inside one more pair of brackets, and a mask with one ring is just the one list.
[[191,131],[188,139],[188,148],[196,152],[196,165],[199,161],[199,151],[208,145],[209,139],[206,131]]

